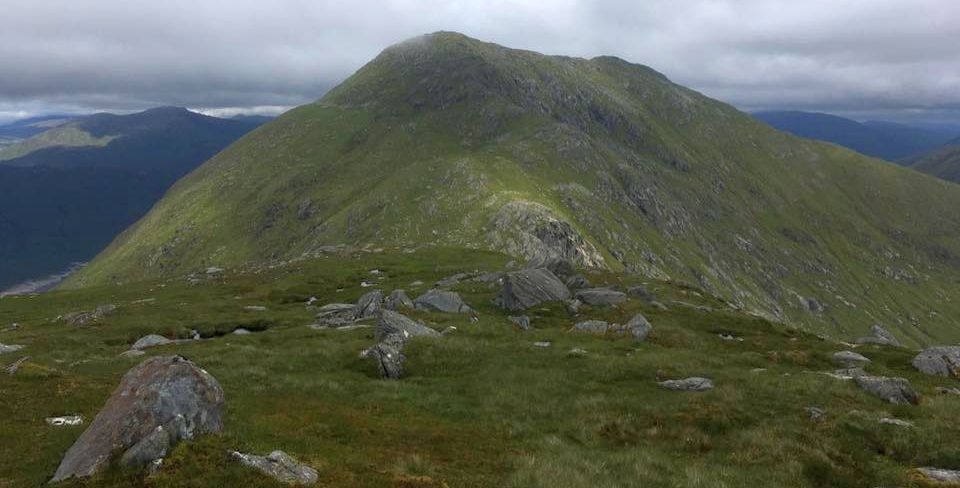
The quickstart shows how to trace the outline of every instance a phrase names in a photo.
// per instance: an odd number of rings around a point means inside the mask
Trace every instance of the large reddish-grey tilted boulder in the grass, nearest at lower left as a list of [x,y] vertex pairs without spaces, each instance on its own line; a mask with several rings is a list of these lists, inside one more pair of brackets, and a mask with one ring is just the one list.
[[223,389],[180,356],[150,358],[127,372],[52,481],[90,476],[114,454],[125,466],[160,459],[180,440],[223,428]]

